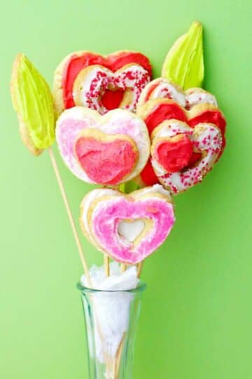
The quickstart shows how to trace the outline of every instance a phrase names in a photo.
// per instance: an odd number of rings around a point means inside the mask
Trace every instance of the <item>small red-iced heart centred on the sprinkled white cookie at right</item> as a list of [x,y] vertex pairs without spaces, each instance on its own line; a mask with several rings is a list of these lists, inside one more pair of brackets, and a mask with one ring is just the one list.
[[193,142],[181,135],[179,140],[163,140],[155,146],[154,158],[169,173],[176,173],[188,166],[193,154]]

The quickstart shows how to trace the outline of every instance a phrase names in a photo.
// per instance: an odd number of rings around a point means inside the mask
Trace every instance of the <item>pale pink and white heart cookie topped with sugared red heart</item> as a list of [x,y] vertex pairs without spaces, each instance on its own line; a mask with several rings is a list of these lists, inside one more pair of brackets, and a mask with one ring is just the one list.
[[134,178],[150,154],[144,121],[123,109],[104,116],[85,107],[66,109],[57,120],[56,140],[74,175],[102,185]]

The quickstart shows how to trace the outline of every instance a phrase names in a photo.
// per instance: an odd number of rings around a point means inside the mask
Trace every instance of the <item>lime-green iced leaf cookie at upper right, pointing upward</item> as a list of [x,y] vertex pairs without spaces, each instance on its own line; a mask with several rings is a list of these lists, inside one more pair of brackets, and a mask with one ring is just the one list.
[[162,77],[184,90],[200,87],[204,79],[202,24],[193,22],[186,34],[176,40],[162,67]]

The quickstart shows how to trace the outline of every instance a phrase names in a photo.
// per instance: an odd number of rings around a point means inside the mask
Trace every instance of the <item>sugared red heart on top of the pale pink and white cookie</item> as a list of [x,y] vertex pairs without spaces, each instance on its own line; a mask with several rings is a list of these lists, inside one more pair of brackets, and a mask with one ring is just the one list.
[[82,136],[75,145],[76,156],[87,176],[103,185],[116,185],[129,175],[137,161],[137,152],[127,140],[102,142]]

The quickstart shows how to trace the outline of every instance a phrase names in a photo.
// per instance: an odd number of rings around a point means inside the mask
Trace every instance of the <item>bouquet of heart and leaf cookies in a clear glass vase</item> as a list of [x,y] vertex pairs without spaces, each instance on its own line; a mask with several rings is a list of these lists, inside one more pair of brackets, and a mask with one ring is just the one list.
[[[223,154],[225,117],[203,79],[199,22],[174,43],[157,79],[142,53],[78,51],[57,67],[51,93],[25,55],[13,63],[22,141],[35,156],[48,149],[83,264],[90,378],[132,378],[144,260],[174,227],[174,197],[200,183]],[[87,267],[55,140],[71,173],[94,185],[79,222],[103,254],[102,267]]]

